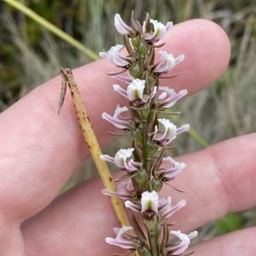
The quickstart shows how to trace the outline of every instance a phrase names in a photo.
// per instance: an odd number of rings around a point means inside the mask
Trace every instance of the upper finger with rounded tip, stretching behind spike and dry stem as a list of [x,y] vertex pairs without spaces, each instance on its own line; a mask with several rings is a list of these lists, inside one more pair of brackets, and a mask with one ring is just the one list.
[[[166,50],[186,55],[186,61],[175,70],[179,73],[177,78],[168,81],[176,90],[201,90],[227,66],[228,38],[211,21],[190,20],[174,26],[165,40]],[[216,55],[222,58],[217,59]],[[113,113],[118,103],[125,104],[112,90],[115,81],[105,74],[113,68],[101,60],[73,72],[102,145],[113,139],[106,132],[113,128],[102,120],[102,112]],[[28,218],[44,208],[89,154],[70,96],[61,114],[56,114],[60,86],[59,77],[52,79],[0,116],[0,198],[9,218]]]

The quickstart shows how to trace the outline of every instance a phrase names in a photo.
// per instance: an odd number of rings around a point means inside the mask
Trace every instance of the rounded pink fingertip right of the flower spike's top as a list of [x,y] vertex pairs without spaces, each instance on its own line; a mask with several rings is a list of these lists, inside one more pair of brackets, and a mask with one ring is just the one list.
[[[189,88],[189,94],[212,84],[230,61],[230,40],[224,30],[211,20],[187,20],[172,27],[163,47],[173,55],[185,55],[172,73],[173,88]],[[182,87],[182,88],[181,88]]]

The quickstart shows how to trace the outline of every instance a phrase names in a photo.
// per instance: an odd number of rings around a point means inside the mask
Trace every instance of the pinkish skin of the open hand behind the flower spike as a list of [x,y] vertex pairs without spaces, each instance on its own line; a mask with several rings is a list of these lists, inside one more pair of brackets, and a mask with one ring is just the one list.
[[[209,20],[189,20],[174,26],[163,47],[185,61],[164,80],[189,95],[206,88],[224,73],[230,43],[224,31]],[[113,113],[125,99],[113,92],[116,80],[106,73],[118,71],[106,60],[73,71],[85,108],[102,146],[113,137],[113,126],[102,112]],[[119,83],[121,85],[121,83]],[[89,156],[69,93],[57,115],[60,76],[38,86],[0,114],[0,255],[113,255],[124,253],[105,243],[119,223],[102,182],[92,179],[56,195]],[[93,100],[92,100],[93,99]],[[170,218],[173,230],[183,233],[223,216],[256,205],[256,135],[236,137],[177,158],[187,167],[172,183],[185,194],[165,186],[161,195],[188,204]],[[119,175],[117,175],[119,177]],[[255,228],[240,230],[189,248],[195,255],[255,255]]]

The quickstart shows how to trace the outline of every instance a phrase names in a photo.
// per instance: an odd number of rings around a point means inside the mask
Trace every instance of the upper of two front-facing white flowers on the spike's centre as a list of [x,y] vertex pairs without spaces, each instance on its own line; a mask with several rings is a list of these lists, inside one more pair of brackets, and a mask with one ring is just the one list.
[[141,105],[152,99],[156,94],[156,86],[152,90],[150,96],[144,94],[145,80],[134,79],[131,84],[127,86],[127,90],[121,88],[119,84],[113,84],[113,90],[117,91],[121,96],[125,96],[131,102]]

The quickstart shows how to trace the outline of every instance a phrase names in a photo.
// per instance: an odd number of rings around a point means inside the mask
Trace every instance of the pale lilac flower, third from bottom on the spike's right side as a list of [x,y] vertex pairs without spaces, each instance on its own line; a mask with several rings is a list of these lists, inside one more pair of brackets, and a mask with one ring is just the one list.
[[180,172],[183,171],[183,169],[186,167],[186,165],[182,163],[178,163],[177,161],[173,160],[171,156],[164,157],[162,159],[162,164],[165,162],[169,162],[172,164],[172,167],[170,168],[159,168],[159,170],[155,171],[154,177],[156,177],[158,180],[161,180],[162,182],[168,182],[174,177],[177,176]]

